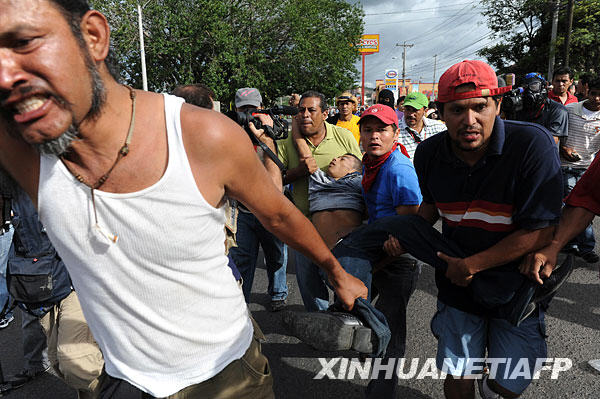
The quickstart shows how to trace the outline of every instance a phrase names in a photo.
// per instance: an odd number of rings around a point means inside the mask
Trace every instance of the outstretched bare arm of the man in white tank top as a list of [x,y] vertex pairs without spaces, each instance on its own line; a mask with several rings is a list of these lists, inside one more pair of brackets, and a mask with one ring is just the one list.
[[[241,128],[206,112],[182,113],[182,127],[194,177],[207,201],[216,205],[224,194],[241,201],[265,228],[327,273],[347,308],[356,298],[366,298],[364,284],[344,271],[310,221],[272,183]],[[194,134],[197,129],[202,134]]]

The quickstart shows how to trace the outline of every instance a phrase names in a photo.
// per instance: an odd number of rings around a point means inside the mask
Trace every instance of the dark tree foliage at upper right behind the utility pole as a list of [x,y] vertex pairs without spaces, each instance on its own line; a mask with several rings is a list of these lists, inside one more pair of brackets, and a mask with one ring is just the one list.
[[[548,69],[553,0],[482,0],[489,28],[501,41],[479,51],[499,72],[522,76]],[[567,1],[559,3],[555,65],[564,63]],[[577,72],[594,71],[600,61],[600,1],[575,2],[569,66]]]

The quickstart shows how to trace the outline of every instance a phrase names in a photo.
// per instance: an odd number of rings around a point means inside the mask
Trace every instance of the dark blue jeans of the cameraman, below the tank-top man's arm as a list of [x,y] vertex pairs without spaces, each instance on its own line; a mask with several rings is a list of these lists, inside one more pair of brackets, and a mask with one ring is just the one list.
[[265,229],[256,216],[243,211],[238,215],[236,241],[238,246],[229,250],[229,256],[242,275],[246,303],[250,302],[259,245],[265,255],[271,300],[286,299],[287,245]]

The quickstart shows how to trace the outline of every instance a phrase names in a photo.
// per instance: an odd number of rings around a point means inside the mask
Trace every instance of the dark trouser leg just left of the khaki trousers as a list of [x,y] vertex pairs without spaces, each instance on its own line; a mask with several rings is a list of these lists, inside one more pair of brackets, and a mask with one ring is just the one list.
[[23,328],[23,358],[25,364],[23,370],[35,374],[46,370],[50,366],[48,360],[48,347],[46,334],[40,325],[40,319],[21,311]]

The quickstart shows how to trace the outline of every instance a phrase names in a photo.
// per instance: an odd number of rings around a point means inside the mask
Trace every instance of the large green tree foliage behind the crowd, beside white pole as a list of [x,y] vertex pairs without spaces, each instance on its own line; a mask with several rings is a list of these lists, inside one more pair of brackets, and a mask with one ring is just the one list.
[[[141,87],[136,0],[93,0],[112,28],[122,78]],[[142,1],[140,0],[140,3]],[[147,0],[143,27],[152,90],[204,83],[223,101],[240,87],[263,97],[353,85],[363,11],[343,0]]]

